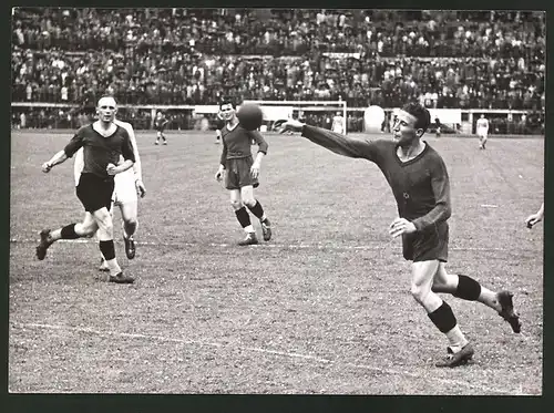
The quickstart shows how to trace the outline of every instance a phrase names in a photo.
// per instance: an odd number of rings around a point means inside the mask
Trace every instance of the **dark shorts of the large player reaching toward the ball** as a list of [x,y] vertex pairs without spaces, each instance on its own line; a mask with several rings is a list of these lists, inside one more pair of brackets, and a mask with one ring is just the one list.
[[449,255],[449,225],[441,223],[422,231],[402,235],[402,254],[407,260],[447,262]]

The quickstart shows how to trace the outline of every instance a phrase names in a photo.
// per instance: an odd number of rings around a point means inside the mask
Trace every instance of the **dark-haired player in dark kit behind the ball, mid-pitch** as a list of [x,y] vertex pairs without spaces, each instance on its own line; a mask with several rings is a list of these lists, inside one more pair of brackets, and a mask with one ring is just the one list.
[[[225,126],[222,128],[223,152],[215,178],[219,182],[225,175],[225,187],[230,193],[230,205],[235,209],[238,223],[246,231],[246,238],[238,245],[248,246],[258,244],[258,239],[246,207],[259,219],[264,240],[271,239],[271,224],[261,204],[254,197],[254,188],[259,185],[261,159],[267,154],[268,145],[259,132],[247,131],[238,124],[235,109],[234,103],[229,101],[219,105]],[[252,140],[258,145],[255,159],[252,156]]]

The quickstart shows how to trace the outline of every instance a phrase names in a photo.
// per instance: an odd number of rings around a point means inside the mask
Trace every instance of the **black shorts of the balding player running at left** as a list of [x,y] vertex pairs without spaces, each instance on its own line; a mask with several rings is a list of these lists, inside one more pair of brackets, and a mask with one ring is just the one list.
[[113,188],[113,177],[101,178],[94,174],[81,174],[76,196],[88,213],[94,213],[103,207],[110,210]]

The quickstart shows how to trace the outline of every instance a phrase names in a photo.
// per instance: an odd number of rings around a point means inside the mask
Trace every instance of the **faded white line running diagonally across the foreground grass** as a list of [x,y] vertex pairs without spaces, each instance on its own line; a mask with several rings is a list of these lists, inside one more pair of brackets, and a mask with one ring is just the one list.
[[[120,337],[120,338],[126,338],[126,339],[136,339],[136,340],[154,340],[154,341],[160,341],[160,342],[173,342],[173,343],[179,343],[179,344],[195,344],[195,345],[203,345],[203,347],[212,347],[212,348],[228,348],[230,350],[239,350],[239,351],[248,351],[248,352],[255,352],[255,353],[261,353],[261,354],[273,354],[273,355],[279,355],[284,358],[289,358],[289,359],[300,359],[305,361],[311,361],[314,363],[320,363],[320,364],[336,364],[336,365],[342,365],[346,368],[350,369],[359,369],[359,370],[368,370],[372,372],[377,372],[383,375],[401,375],[401,376],[409,376],[412,379],[423,379],[420,374],[412,373],[410,371],[400,371],[396,369],[381,369],[375,365],[367,365],[367,364],[357,364],[357,363],[350,363],[350,362],[343,362],[340,360],[330,360],[330,359],[325,359],[317,355],[310,355],[310,354],[300,354],[300,353],[295,353],[295,352],[288,352],[288,351],[279,351],[279,350],[270,350],[270,349],[263,349],[263,348],[256,348],[256,347],[242,347],[242,345],[234,345],[234,344],[225,344],[225,343],[217,343],[217,342],[206,342],[206,341],[196,341],[196,340],[186,340],[186,339],[176,339],[176,338],[171,338],[171,337],[163,337],[163,335],[150,335],[150,334],[140,334],[140,333],[124,333],[124,332],[117,332],[117,331],[102,331],[102,330],[95,330],[91,328],[84,328],[84,327],[70,327],[70,326],[55,326],[55,324],[43,324],[43,323],[21,323],[21,322],[11,322],[12,327],[18,327],[18,328],[28,328],[28,329],[45,329],[45,330],[65,330],[65,331],[73,331],[73,332],[83,332],[83,333],[89,333],[89,334],[94,334],[94,335],[100,335],[100,337]],[[430,376],[425,376],[425,379],[430,380]],[[502,389],[496,389],[496,388],[491,388],[491,386],[485,386],[485,385],[476,385],[472,384],[466,381],[462,380],[452,380],[452,379],[440,379],[440,378],[432,378],[431,380],[445,384],[449,388],[469,388],[478,391],[482,391],[483,393],[493,393],[493,394],[504,394],[504,395],[521,395],[521,389],[517,390],[507,390],[506,388]]]

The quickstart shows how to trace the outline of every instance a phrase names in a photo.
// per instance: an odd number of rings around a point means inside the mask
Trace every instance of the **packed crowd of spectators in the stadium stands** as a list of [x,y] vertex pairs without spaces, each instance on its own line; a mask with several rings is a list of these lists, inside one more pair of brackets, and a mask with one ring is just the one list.
[[545,103],[541,12],[18,8],[12,21],[14,102]]

